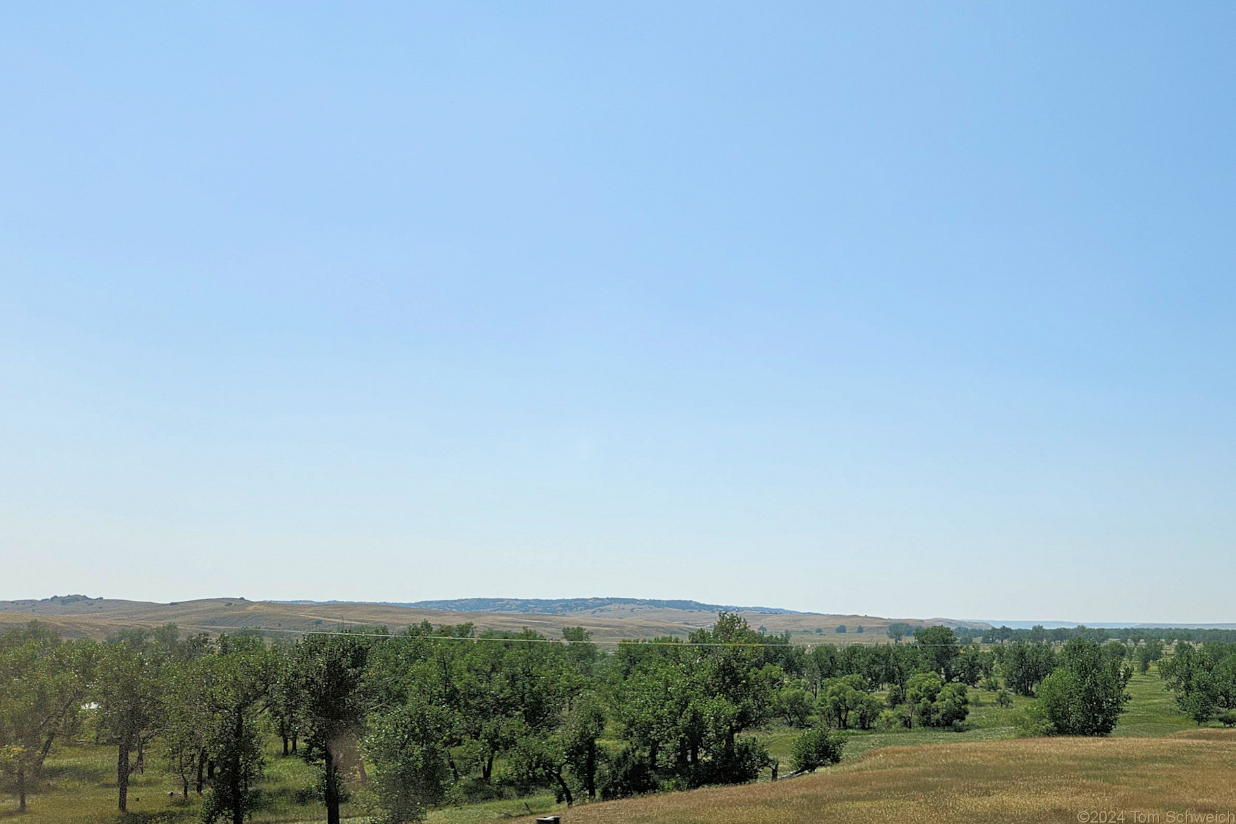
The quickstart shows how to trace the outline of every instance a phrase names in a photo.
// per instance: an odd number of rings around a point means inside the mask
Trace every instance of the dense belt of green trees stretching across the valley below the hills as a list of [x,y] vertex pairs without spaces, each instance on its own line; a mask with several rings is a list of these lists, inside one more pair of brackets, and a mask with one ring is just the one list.
[[[424,623],[268,644],[173,625],[66,641],[32,624],[0,635],[0,770],[25,808],[57,744],[93,735],[115,749],[120,810],[130,776],[158,763],[182,797],[203,797],[205,822],[241,824],[263,803],[273,738],[318,767],[308,796],[330,824],[349,796],[413,822],[504,792],[549,788],[571,804],[776,777],[753,735],[774,721],[802,730],[787,767],[811,771],[839,760],[848,730],[963,728],[974,687],[1004,705],[1007,689],[1036,696],[1028,734],[1105,734],[1137,656],[1151,654],[1163,645],[984,649],[943,626],[906,644],[805,647],[726,613],[686,641],[611,652],[582,628],[550,640]],[[1208,672],[1230,666],[1206,661]],[[1189,684],[1211,683],[1190,673]],[[1215,707],[1230,705],[1224,689]]]

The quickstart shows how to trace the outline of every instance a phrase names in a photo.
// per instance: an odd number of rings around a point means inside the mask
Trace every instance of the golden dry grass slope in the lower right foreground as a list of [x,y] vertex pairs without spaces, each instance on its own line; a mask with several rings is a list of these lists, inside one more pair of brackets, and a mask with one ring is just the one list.
[[1236,731],[889,747],[790,781],[578,807],[562,823],[1059,824],[1099,810],[1130,824],[1236,813]]

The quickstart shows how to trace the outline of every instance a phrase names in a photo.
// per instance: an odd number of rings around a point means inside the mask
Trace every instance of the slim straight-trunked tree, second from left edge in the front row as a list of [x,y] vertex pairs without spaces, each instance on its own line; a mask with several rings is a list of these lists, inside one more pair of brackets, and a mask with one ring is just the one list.
[[[146,747],[163,724],[161,694],[166,658],[148,645],[129,641],[104,645],[91,692],[99,704],[103,736],[116,746],[116,794],[129,812],[129,777],[145,767]],[[136,759],[133,756],[136,755]]]

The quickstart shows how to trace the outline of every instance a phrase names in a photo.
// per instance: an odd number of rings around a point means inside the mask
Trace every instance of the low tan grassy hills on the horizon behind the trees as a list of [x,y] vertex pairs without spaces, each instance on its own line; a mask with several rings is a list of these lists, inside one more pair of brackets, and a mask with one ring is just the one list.
[[[711,626],[717,616],[714,612],[702,609],[707,604],[700,604],[700,608],[682,608],[660,605],[666,602],[635,599],[596,599],[607,603],[593,603],[593,599],[578,600],[585,603],[575,609],[560,605],[555,613],[528,613],[509,609],[461,612],[400,604],[288,603],[243,598],[204,598],[159,604],[62,595],[42,600],[0,602],[0,630],[40,620],[59,629],[68,637],[106,637],[119,629],[153,628],[167,623],[174,623],[187,631],[211,634],[241,628],[261,628],[272,635],[297,635],[355,625],[386,625],[392,631],[400,631],[410,624],[428,620],[431,624],[470,621],[482,630],[518,631],[528,626],[546,637],[561,637],[565,626],[583,626],[592,630],[597,641],[618,641],[660,635],[684,637],[693,630]],[[871,615],[769,613],[754,609],[745,609],[739,614],[751,626],[763,626],[769,633],[789,631],[792,640],[798,642],[887,642],[885,629],[894,620],[905,620],[916,626],[936,623]],[[837,634],[837,626],[840,624],[849,631],[843,635]],[[858,626],[863,626],[865,633],[855,633]]]

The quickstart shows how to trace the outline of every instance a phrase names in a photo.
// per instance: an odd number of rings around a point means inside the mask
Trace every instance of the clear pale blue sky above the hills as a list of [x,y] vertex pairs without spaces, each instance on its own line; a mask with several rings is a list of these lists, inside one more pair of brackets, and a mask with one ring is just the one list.
[[0,6],[0,598],[1236,621],[1230,2]]

